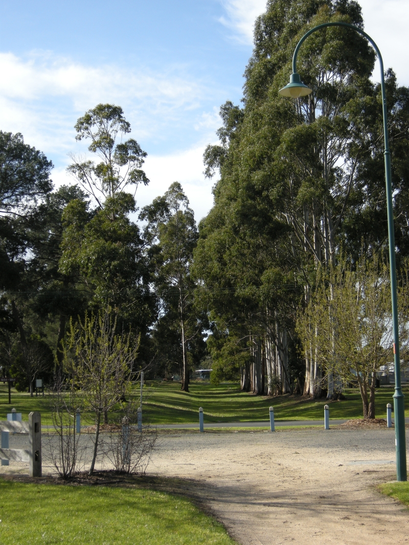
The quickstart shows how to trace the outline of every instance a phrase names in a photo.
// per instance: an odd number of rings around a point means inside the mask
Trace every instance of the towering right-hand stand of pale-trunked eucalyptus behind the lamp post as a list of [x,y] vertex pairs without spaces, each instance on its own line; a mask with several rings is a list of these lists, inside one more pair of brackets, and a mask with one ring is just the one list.
[[[220,172],[220,179],[214,207],[200,225],[194,269],[202,279],[198,297],[209,309],[214,378],[240,372],[251,392],[317,397],[337,397],[354,379],[364,414],[366,406],[373,415],[368,391],[382,365],[393,361],[384,332],[390,299],[382,312],[372,305],[372,337],[363,312],[370,286],[362,277],[389,286],[382,99],[380,84],[371,80],[375,52],[350,29],[321,29],[298,54],[298,72],[312,94],[290,100],[278,93],[299,39],[329,21],[364,24],[358,3],[348,0],[269,0],[256,20],[242,106],[221,107],[220,143],[204,153],[205,173]],[[405,292],[409,90],[388,69],[386,91]],[[339,302],[346,284],[355,301],[350,323],[356,318],[361,332],[348,350],[351,330],[346,320],[344,330],[340,326],[347,306]]]

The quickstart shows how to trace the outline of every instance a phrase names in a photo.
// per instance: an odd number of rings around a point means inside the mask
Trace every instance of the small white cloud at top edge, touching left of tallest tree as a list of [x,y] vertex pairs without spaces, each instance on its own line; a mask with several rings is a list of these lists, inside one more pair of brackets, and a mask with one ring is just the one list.
[[221,3],[227,17],[220,17],[219,21],[237,33],[236,39],[252,45],[254,21],[266,11],[267,0],[221,0]]

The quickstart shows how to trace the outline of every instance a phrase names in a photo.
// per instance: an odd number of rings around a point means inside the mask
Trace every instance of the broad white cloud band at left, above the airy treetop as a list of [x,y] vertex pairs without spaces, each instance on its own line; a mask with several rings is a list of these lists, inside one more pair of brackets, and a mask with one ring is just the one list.
[[214,92],[185,75],[183,66],[158,74],[86,66],[50,52],[0,53],[0,73],[2,130],[22,132],[47,154],[72,151],[76,119],[99,102],[120,104],[138,140],[160,140],[167,125],[189,118]]

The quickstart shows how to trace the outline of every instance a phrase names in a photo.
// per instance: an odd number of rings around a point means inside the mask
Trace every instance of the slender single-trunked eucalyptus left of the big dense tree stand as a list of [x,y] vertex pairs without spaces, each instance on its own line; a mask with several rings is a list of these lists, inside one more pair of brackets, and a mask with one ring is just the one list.
[[163,197],[143,208],[139,217],[147,222],[148,257],[162,307],[152,334],[154,358],[165,374],[181,372],[182,389],[187,391],[191,364],[199,363],[204,353],[203,323],[193,305],[190,273],[197,243],[193,210],[176,181]]

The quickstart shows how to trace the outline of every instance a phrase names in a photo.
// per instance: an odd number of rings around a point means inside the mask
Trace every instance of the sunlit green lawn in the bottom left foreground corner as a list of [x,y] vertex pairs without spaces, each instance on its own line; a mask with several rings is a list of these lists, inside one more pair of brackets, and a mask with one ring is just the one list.
[[233,545],[185,498],[140,488],[0,480],[2,545]]

